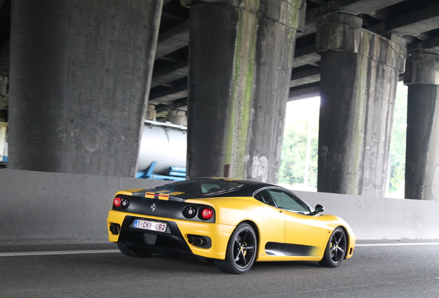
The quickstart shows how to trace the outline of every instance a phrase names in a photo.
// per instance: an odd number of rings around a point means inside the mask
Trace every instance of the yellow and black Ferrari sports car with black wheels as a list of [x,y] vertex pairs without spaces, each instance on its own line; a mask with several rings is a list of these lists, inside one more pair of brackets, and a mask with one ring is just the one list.
[[116,193],[109,240],[130,257],[177,253],[243,274],[255,261],[319,261],[337,267],[355,235],[293,192],[260,181],[200,178]]

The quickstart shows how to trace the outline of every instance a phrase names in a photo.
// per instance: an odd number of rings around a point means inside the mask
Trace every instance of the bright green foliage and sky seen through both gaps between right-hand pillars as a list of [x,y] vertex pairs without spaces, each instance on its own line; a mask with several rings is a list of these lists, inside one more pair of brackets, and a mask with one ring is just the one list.
[[[319,106],[319,101],[311,103],[310,99],[289,103],[286,114],[279,183],[291,186],[305,184],[306,148],[308,137],[310,137],[311,146],[306,186],[317,187]],[[311,126],[310,131],[309,126]],[[407,87],[400,82],[398,83],[395,109],[393,111],[389,193],[396,192],[401,183],[404,183],[406,131]]]

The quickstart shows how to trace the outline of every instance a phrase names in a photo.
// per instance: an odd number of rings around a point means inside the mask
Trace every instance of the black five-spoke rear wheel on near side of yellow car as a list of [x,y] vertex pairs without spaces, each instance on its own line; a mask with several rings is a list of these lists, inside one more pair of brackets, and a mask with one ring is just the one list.
[[215,260],[215,267],[233,274],[244,274],[256,259],[257,238],[255,230],[246,223],[238,225],[228,240],[226,259]]

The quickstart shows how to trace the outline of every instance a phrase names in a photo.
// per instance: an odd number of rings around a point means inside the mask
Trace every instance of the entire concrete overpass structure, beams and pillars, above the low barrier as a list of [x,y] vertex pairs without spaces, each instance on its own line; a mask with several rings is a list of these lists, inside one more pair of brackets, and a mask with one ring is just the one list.
[[275,183],[286,102],[320,95],[318,190],[384,197],[404,76],[406,197],[439,198],[431,1],[2,2],[9,168],[134,177],[146,115],[179,110],[189,177]]

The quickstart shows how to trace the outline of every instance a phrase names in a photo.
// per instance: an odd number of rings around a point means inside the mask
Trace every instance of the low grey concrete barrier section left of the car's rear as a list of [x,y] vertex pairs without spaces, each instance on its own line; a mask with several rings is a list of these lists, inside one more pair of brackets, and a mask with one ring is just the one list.
[[164,181],[0,170],[0,244],[104,242],[117,190]]

